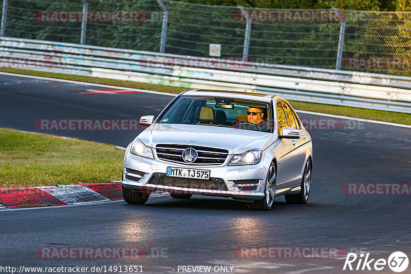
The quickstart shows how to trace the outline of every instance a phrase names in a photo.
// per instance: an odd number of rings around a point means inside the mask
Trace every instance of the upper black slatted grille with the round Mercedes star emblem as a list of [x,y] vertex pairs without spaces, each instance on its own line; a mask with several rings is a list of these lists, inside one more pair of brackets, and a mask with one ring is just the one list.
[[[193,163],[183,160],[182,154],[187,148],[194,148],[198,153],[197,160]],[[228,155],[226,149],[187,145],[157,145],[156,152],[158,159],[188,165],[220,165],[226,161]]]

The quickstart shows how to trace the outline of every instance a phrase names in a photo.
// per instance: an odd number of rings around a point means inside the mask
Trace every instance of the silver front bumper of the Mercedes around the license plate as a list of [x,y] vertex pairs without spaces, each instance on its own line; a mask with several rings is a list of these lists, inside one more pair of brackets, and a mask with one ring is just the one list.
[[[141,156],[134,155],[126,150],[124,156],[124,168],[123,168],[123,181],[122,184],[125,188],[134,189],[138,191],[155,191],[162,190],[167,192],[176,193],[190,193],[190,194],[200,194],[200,195],[210,195],[218,197],[229,197],[236,200],[244,201],[258,201],[264,198],[264,187],[266,179],[266,166],[264,156],[260,163],[256,165],[246,165],[246,166],[227,166],[232,155],[228,155],[225,163],[222,165],[184,165],[172,162],[166,162],[159,159],[148,159]],[[156,157],[156,156],[155,156]],[[269,166],[269,164],[268,164]],[[225,187],[218,189],[200,189],[200,188],[187,188],[187,187],[176,187],[170,185],[159,185],[152,184],[153,176],[159,173],[166,173],[167,167],[180,167],[180,168],[193,168],[193,169],[203,169],[210,170],[210,178],[221,179],[218,180],[221,184],[225,184]],[[127,172],[126,169],[133,169],[139,171],[140,175],[134,175]],[[133,173],[136,173],[133,171]],[[185,179],[182,179],[185,180]],[[248,188],[252,190],[245,190],[247,188],[238,187],[238,182],[235,184],[234,181],[242,180],[255,180],[255,187]]]

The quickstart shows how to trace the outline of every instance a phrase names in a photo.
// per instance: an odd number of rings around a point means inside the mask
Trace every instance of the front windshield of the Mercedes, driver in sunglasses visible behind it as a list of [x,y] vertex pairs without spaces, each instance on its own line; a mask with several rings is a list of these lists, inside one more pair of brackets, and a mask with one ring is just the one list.
[[161,124],[190,124],[271,132],[270,104],[226,97],[181,96]]

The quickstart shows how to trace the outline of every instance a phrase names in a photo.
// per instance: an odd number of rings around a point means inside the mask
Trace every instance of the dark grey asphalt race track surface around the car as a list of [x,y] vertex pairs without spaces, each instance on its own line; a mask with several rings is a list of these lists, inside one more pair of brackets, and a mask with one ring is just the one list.
[[[138,119],[158,114],[172,99],[149,93],[73,92],[90,88],[100,87],[0,75],[0,127],[39,131],[34,127],[39,119]],[[344,123],[349,128],[309,129],[314,161],[306,205],[289,205],[281,197],[276,198],[272,211],[259,212],[227,198],[194,195],[190,200],[177,200],[162,195],[143,206],[117,201],[0,210],[0,265],[141,265],[145,273],[178,273],[179,265],[210,265],[211,272],[214,266],[233,266],[234,273],[376,272],[343,271],[344,258],[242,259],[235,253],[239,247],[341,247],[346,252],[370,252],[370,259],[388,259],[391,252],[402,251],[411,259],[411,195],[343,192],[343,185],[349,183],[410,184],[411,130]],[[138,133],[42,132],[119,146],[126,146]],[[35,254],[42,247],[141,247],[148,256],[42,259]],[[161,248],[163,256],[158,256]],[[388,266],[378,272],[394,273]],[[410,272],[411,265],[402,273]]]

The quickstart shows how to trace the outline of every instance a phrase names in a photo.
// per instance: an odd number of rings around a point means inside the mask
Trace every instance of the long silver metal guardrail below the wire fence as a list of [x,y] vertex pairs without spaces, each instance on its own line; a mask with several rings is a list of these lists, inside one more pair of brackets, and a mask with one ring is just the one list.
[[257,64],[224,58],[0,39],[0,66],[411,113],[411,77]]

